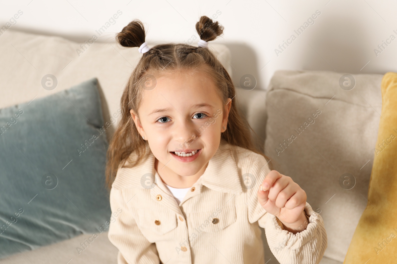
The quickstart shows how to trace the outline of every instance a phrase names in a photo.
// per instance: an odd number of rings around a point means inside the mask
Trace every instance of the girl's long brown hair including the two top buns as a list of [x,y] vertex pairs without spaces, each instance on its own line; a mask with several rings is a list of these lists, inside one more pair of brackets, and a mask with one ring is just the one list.
[[[223,34],[224,27],[218,21],[202,16],[196,23],[196,30],[200,39],[215,40]],[[116,40],[124,47],[140,47],[145,42],[145,28],[143,23],[134,19],[116,35]],[[257,150],[251,139],[251,126],[243,123],[237,110],[235,87],[233,82],[215,55],[206,47],[195,47],[188,44],[158,44],[150,48],[139,60],[133,70],[123,95],[121,96],[121,120],[110,141],[107,151],[106,184],[110,189],[119,167],[134,167],[149,153],[147,142],[143,140],[130,114],[132,109],[138,112],[143,94],[143,84],[148,76],[159,76],[176,70],[204,71],[218,87],[224,105],[227,99],[233,101],[229,111],[227,129],[222,133],[222,139],[229,144],[249,149],[266,155]],[[129,160],[132,152],[136,152],[134,160]],[[126,165],[126,161],[130,163]],[[269,163],[271,165],[271,163]]]

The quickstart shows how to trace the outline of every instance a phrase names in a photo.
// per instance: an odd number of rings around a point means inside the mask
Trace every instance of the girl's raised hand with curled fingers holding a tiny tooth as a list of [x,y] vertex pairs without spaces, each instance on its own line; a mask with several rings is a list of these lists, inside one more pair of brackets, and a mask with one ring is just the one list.
[[272,170],[258,190],[260,205],[275,215],[284,225],[284,229],[294,234],[306,229],[308,218],[303,212],[306,205],[306,192],[291,177]]

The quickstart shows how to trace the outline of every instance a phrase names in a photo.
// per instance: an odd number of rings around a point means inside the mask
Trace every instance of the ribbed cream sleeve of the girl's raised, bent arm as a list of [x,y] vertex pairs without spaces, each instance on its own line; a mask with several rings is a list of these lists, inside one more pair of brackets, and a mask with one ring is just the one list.
[[270,251],[280,264],[318,264],[328,245],[322,217],[306,202],[304,212],[309,218],[306,229],[296,234],[284,230],[279,219],[266,212],[258,202],[259,186],[270,172],[266,163],[265,158],[259,158],[252,167],[252,174],[259,182],[255,184],[258,188],[253,188],[248,196],[251,200],[248,203],[249,222],[258,221],[259,226],[264,228]]

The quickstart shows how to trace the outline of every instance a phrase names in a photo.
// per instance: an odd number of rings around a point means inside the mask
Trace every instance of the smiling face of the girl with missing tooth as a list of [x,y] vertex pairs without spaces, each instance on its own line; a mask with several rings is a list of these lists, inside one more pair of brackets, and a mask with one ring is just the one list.
[[231,99],[224,107],[218,88],[201,72],[177,71],[156,81],[154,89],[144,91],[137,115],[131,110],[131,116],[159,168],[165,165],[177,175],[196,175],[219,147]]

